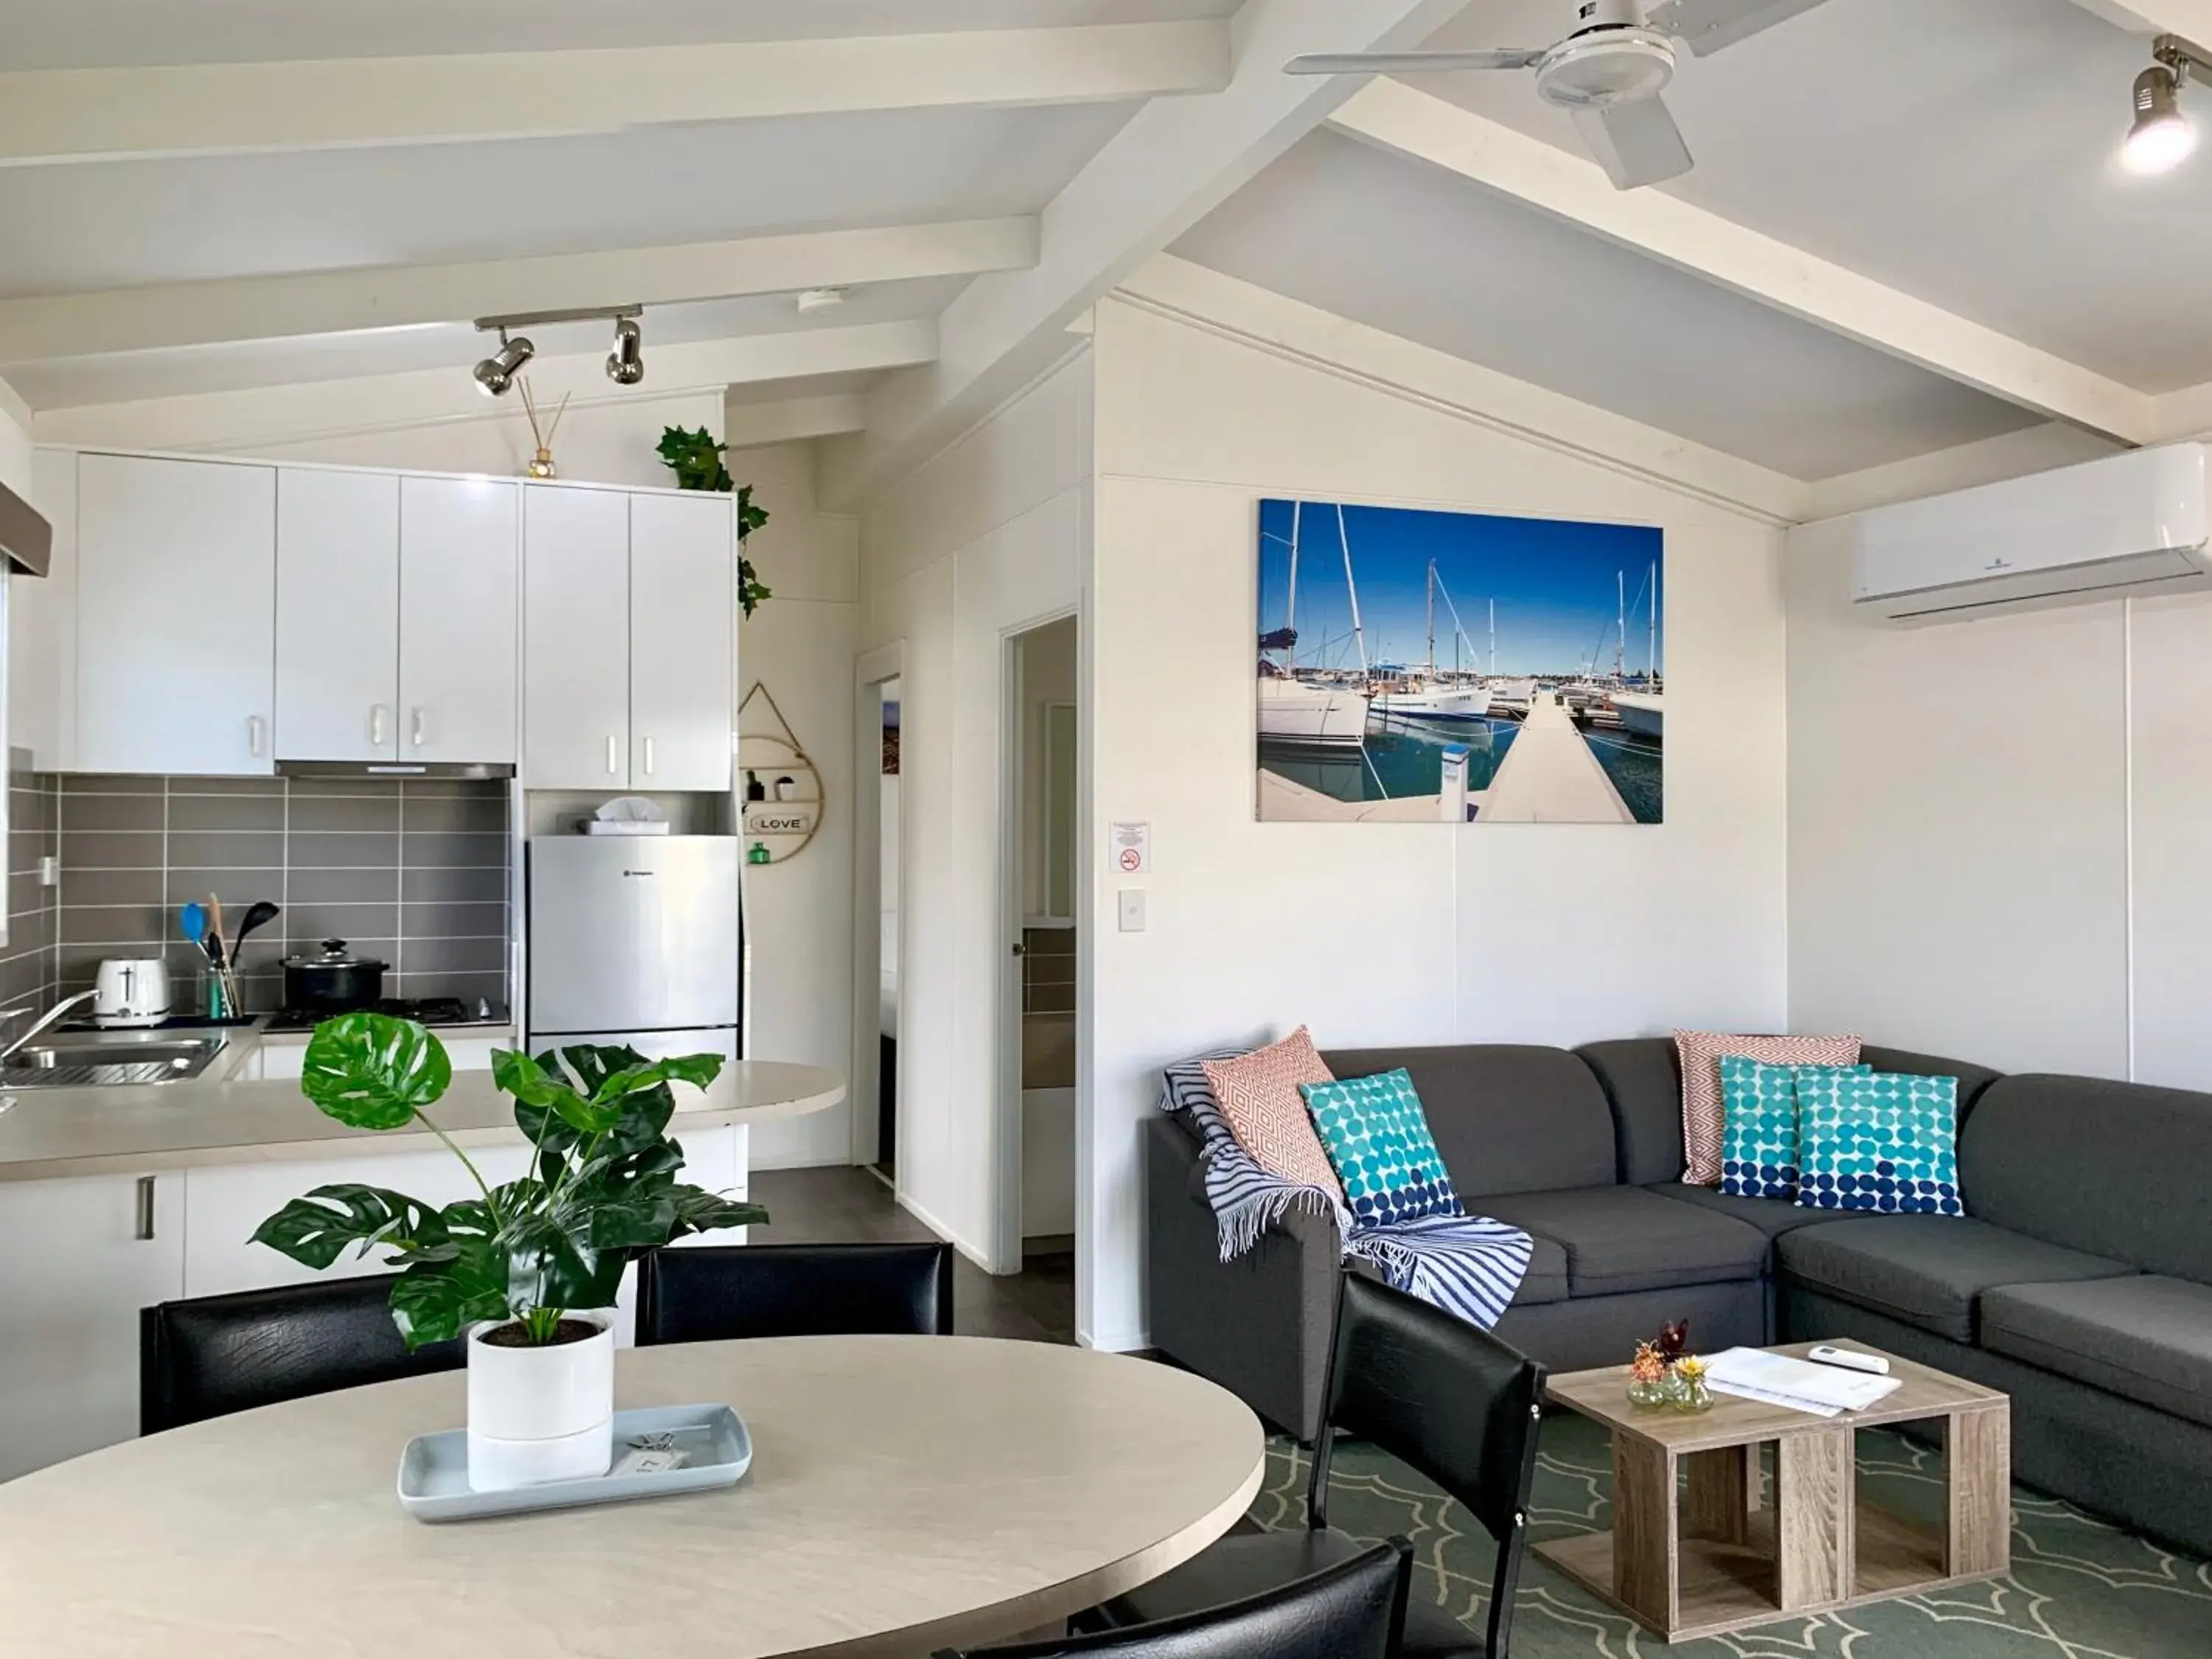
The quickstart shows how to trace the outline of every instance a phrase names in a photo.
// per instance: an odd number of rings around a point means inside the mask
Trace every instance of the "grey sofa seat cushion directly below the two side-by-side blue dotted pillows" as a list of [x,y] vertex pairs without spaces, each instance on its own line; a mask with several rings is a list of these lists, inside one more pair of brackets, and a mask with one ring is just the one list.
[[1774,1250],[1801,1285],[1971,1343],[1982,1292],[2062,1279],[2121,1279],[2124,1261],[1947,1214],[1867,1214],[1785,1232]]

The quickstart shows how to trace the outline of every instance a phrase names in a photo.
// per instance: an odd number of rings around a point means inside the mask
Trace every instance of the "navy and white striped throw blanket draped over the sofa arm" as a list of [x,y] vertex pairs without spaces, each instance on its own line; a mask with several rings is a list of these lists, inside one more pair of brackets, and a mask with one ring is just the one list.
[[1520,1228],[1486,1217],[1431,1214],[1394,1225],[1356,1225],[1343,1199],[1327,1188],[1298,1186],[1270,1175],[1237,1144],[1221,1102],[1214,1099],[1206,1060],[1230,1060],[1239,1051],[1168,1066],[1159,1106],[1190,1113],[1206,1141],[1206,1199],[1221,1228],[1221,1259],[1232,1261],[1290,1210],[1312,1210],[1336,1221],[1347,1259],[1369,1261],[1398,1290],[1489,1329],[1504,1314],[1528,1272],[1535,1243]]

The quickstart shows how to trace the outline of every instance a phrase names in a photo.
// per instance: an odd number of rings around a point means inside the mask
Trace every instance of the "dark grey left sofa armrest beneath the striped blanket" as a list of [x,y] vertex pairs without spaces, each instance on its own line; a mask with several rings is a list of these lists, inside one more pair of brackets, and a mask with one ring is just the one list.
[[1312,1440],[1336,1323],[1336,1219],[1287,1210],[1245,1254],[1221,1261],[1190,1135],[1155,1117],[1144,1148],[1152,1347]]

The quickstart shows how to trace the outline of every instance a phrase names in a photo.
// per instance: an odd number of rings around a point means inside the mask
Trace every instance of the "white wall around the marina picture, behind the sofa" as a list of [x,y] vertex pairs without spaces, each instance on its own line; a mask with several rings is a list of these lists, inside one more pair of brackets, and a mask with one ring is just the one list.
[[[1785,1024],[1781,535],[1608,465],[1595,411],[1593,453],[1533,442],[1396,389],[1349,332],[1325,363],[1113,301],[1093,349],[1088,814],[1148,821],[1152,872],[1086,865],[1091,914],[1144,887],[1150,925],[1086,942],[1077,1318],[1139,1347],[1161,1064],[1298,1022],[1347,1046]],[[1663,526],[1666,823],[1254,823],[1254,515],[1290,493]]]

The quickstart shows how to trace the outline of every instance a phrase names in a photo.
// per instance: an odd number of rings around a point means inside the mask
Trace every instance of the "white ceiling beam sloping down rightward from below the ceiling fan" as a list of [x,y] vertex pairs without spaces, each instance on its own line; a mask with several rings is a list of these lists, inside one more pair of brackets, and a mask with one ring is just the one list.
[[2150,398],[2135,387],[1659,190],[1615,190],[1595,164],[1431,93],[1376,80],[1329,119],[1365,144],[1458,173],[1978,392],[2124,442],[2152,438]]

